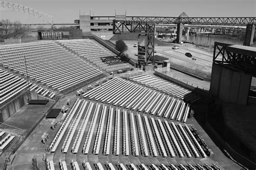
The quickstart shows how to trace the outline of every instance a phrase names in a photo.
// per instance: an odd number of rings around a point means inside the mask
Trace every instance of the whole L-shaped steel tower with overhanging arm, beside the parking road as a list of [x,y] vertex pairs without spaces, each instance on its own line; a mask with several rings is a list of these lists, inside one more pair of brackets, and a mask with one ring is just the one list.
[[149,66],[154,64],[154,30],[153,22],[133,22],[113,20],[113,34],[138,34],[138,64]]

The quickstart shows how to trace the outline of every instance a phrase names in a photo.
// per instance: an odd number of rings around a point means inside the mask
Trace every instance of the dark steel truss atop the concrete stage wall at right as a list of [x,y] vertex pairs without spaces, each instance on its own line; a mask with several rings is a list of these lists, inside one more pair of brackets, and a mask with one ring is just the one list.
[[231,44],[214,43],[213,62],[229,66],[245,73],[256,76],[256,55],[250,51],[237,49],[234,51]]

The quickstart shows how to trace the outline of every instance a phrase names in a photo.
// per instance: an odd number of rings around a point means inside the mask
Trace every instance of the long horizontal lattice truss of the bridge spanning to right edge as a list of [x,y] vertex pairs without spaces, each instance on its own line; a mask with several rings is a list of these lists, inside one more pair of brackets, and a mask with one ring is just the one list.
[[256,17],[126,17],[126,20],[156,24],[247,25],[256,23]]

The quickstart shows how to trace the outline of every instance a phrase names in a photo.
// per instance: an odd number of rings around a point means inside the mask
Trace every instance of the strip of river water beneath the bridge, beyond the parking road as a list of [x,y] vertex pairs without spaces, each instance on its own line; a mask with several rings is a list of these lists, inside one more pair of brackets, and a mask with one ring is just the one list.
[[[183,36],[184,39],[186,39],[185,36]],[[233,37],[228,36],[218,36],[218,35],[212,35],[212,34],[192,34],[188,36],[188,42],[193,42],[197,45],[202,46],[214,46],[214,42],[223,42],[226,44],[238,44],[242,45],[244,41],[235,39]],[[256,41],[253,42],[253,47],[256,47]]]

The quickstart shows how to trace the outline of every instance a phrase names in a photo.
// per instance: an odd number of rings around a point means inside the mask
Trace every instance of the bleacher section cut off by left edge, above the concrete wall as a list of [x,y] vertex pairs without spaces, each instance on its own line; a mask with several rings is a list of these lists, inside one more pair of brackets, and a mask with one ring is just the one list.
[[0,104],[16,96],[30,85],[31,83],[10,73],[8,69],[0,68]]

